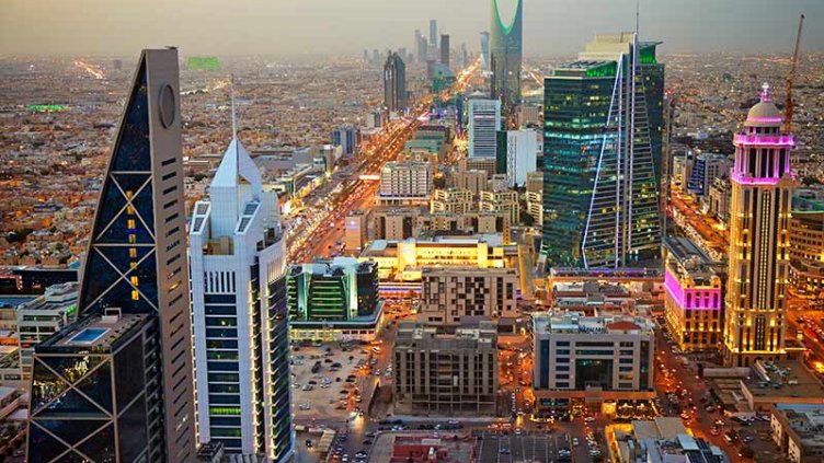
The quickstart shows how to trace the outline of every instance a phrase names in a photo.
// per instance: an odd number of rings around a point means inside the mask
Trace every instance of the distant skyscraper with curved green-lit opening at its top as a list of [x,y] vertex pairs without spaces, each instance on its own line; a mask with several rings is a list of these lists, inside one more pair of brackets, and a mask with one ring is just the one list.
[[523,42],[523,0],[516,0],[515,14],[504,24],[497,0],[492,2],[492,34],[490,36],[490,97],[501,100],[504,113],[510,115],[520,102],[520,65]]

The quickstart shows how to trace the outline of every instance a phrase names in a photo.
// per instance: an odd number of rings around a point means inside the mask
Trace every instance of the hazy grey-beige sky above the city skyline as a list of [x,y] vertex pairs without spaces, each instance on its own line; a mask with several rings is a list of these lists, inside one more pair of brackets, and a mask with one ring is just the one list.
[[[515,0],[500,0],[502,8]],[[577,51],[596,32],[634,27],[634,0],[524,0],[527,56]],[[407,47],[437,19],[453,46],[478,48],[490,0],[0,0],[2,55],[359,56]],[[824,49],[824,0],[641,0],[641,37],[664,51]],[[440,31],[439,31],[440,32]]]

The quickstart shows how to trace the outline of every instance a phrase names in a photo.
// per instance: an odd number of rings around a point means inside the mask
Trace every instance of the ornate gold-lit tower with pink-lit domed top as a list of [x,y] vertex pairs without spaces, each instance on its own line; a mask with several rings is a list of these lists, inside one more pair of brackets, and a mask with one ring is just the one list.
[[730,252],[724,323],[724,360],[748,367],[756,358],[785,354],[789,228],[792,189],[792,134],[781,132],[782,117],[764,84],[760,102],[749,109],[735,135],[730,180]]

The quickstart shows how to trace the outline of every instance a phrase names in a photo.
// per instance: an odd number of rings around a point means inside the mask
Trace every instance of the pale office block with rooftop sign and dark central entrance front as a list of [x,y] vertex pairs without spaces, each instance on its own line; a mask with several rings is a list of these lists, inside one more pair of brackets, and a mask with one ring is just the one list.
[[576,401],[607,404],[655,397],[655,333],[649,319],[533,315],[537,413],[569,410]]

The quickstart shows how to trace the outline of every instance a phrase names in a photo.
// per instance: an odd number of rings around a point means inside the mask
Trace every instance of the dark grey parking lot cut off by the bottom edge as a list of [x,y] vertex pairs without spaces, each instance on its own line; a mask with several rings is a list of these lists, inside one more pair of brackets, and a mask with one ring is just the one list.
[[484,463],[571,461],[570,445],[563,435],[482,432],[478,437],[479,461]]

